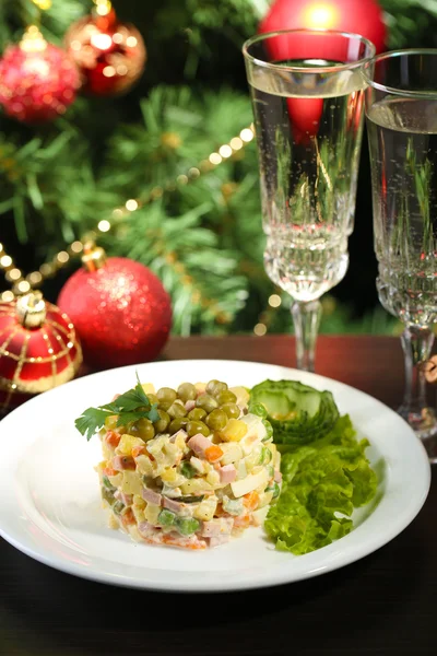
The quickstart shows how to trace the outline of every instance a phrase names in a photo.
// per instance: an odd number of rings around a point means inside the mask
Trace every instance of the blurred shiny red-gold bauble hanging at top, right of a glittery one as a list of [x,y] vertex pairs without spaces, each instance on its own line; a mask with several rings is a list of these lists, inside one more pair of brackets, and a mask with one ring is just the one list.
[[98,96],[127,92],[141,77],[146,50],[139,31],[121,23],[108,0],[74,23],[64,43],[83,78],[83,91]]

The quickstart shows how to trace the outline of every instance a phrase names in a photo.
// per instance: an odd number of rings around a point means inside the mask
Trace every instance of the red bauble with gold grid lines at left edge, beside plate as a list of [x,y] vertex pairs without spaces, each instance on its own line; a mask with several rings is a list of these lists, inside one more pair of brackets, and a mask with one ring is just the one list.
[[0,410],[67,383],[81,362],[73,324],[39,292],[0,302]]

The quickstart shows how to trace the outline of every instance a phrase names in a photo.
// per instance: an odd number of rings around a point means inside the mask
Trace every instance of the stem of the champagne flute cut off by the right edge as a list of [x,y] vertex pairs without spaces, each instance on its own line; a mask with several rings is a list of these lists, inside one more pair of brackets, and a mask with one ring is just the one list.
[[421,423],[426,409],[426,380],[421,363],[429,359],[434,333],[429,328],[409,326],[401,337],[405,362],[405,389],[400,413],[410,424]]

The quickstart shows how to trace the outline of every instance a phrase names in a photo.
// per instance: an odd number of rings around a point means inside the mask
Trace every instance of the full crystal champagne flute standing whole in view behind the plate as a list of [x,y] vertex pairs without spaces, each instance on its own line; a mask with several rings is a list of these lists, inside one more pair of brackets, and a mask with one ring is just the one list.
[[258,144],[264,267],[293,298],[297,366],[314,371],[319,298],[349,266],[363,69],[375,47],[356,34],[291,30],[255,36],[243,52]]

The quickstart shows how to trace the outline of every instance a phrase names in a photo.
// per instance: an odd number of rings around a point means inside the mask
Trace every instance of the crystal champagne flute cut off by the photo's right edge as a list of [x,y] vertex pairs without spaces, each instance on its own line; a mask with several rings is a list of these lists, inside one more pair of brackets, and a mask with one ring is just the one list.
[[399,412],[436,462],[424,364],[437,321],[437,50],[379,55],[365,78],[377,289],[381,305],[404,325]]

